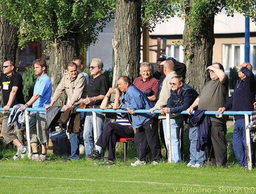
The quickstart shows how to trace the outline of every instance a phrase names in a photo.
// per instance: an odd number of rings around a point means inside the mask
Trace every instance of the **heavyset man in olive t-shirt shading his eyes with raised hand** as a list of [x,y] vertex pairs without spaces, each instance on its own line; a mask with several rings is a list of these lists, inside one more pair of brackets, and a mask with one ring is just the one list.
[[[217,111],[226,103],[228,76],[225,74],[223,66],[218,62],[213,62],[206,70],[208,70],[211,80],[206,82],[200,95],[187,109],[188,114],[191,114],[197,106],[198,109]],[[210,139],[207,141],[207,165],[225,166],[228,162],[226,118],[210,115],[210,120],[212,125],[209,131]]]

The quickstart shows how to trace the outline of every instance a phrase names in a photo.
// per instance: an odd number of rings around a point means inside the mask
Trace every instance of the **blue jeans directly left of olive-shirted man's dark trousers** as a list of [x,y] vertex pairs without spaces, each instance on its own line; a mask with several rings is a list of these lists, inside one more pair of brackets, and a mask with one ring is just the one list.
[[196,151],[196,142],[197,142],[197,131],[196,126],[192,125],[190,122],[188,123],[189,127],[189,140],[190,140],[190,164],[204,164],[205,155],[204,151],[197,152]]

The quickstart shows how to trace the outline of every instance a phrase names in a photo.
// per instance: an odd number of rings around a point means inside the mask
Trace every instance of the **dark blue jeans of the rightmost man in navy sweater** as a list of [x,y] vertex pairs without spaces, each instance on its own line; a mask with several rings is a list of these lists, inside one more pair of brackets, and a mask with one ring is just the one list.
[[[251,142],[251,147],[252,147],[252,142]],[[247,161],[247,147],[246,147],[244,119],[237,119],[235,121],[234,132],[233,132],[233,149],[239,164],[247,166],[248,161]]]

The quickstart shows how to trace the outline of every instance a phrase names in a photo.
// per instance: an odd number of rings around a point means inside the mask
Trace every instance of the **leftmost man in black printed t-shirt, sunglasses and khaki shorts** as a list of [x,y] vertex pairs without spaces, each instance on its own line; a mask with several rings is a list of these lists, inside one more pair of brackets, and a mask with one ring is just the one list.
[[[23,79],[21,75],[15,72],[15,65],[11,60],[7,60],[3,65],[4,73],[0,75],[0,91],[3,91],[3,99],[4,99],[4,111],[9,111],[14,105],[17,104],[25,104],[24,96],[22,93],[22,82]],[[7,144],[12,142],[17,146],[18,150],[13,159],[18,159],[18,157],[24,157],[24,153],[26,152],[26,146],[23,146],[24,143],[24,135],[23,132],[25,127],[22,126],[21,129],[18,129],[16,122],[13,126],[8,127],[8,118],[10,112],[4,112],[4,118],[2,123],[1,133]],[[15,134],[13,134],[13,130],[15,130]]]

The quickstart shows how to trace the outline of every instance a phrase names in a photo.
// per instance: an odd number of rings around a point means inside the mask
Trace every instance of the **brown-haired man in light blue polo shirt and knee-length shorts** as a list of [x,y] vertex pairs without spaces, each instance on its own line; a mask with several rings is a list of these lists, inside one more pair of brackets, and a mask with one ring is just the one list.
[[[47,65],[44,60],[36,59],[33,62],[35,74],[38,75],[34,87],[33,96],[30,100],[20,107],[20,111],[25,110],[32,105],[32,108],[44,108],[45,105],[51,103],[52,97],[52,82],[48,77]],[[49,141],[49,130],[46,130],[46,112],[36,111],[30,113],[31,121],[30,128],[30,142],[33,149],[32,160],[46,161],[47,143]],[[37,150],[38,141],[42,144],[42,154],[39,156]]]

